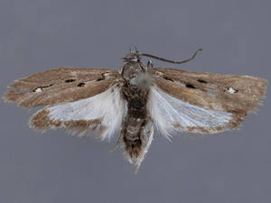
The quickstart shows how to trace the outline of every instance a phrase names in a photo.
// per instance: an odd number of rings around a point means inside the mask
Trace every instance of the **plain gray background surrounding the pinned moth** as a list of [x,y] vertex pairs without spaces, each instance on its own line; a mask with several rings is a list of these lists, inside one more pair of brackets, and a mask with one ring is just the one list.
[[[1,0],[1,94],[58,66],[117,69],[129,46],[156,66],[270,79],[270,1]],[[270,88],[269,88],[270,90]],[[1,203],[271,202],[270,91],[258,115],[219,135],[155,136],[139,174],[115,144],[33,132],[34,110],[1,101]]]

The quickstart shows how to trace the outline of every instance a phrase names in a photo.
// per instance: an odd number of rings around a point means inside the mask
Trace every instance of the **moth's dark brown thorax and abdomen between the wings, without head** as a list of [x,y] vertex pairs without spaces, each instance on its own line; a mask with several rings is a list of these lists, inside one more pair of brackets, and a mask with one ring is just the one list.
[[136,82],[136,78],[145,74],[145,71],[145,65],[140,60],[128,61],[121,69],[122,78],[125,80],[121,93],[127,102],[127,115],[123,120],[120,136],[126,153],[132,159],[138,158],[142,152],[145,125],[150,122],[146,106],[149,87],[141,88]]

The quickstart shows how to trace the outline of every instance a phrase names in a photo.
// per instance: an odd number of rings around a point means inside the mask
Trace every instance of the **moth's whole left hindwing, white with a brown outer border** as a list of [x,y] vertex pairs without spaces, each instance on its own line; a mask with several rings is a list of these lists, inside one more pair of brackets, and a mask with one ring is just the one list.
[[45,107],[32,116],[30,126],[42,132],[65,127],[79,135],[94,131],[104,140],[119,133],[126,111],[126,101],[113,86],[94,97]]

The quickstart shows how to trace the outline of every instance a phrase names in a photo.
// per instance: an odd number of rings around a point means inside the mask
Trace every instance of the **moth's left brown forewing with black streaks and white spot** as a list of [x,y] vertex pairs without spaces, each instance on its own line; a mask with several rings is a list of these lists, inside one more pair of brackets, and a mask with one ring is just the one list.
[[120,78],[117,70],[56,68],[15,80],[5,100],[18,106],[55,105],[93,97]]

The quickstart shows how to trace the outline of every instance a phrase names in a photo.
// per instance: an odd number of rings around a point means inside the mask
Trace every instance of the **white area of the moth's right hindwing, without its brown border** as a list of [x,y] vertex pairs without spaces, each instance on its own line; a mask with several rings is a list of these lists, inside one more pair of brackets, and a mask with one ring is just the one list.
[[[148,110],[158,132],[168,138],[176,131],[189,131],[190,127],[206,129],[210,134],[216,133],[217,127],[225,127],[232,119],[232,114],[228,112],[193,106],[155,86],[150,90]],[[195,130],[192,133],[201,132]]]

